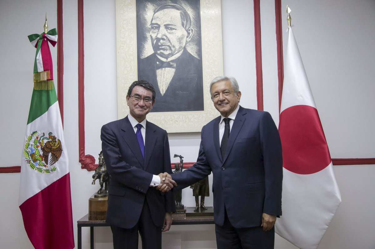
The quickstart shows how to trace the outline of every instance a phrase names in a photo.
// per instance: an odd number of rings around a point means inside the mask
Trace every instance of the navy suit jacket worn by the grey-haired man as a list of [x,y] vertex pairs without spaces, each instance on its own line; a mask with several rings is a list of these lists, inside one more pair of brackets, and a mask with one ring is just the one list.
[[220,116],[202,128],[197,162],[172,178],[177,188],[184,188],[212,171],[215,223],[223,225],[225,206],[234,227],[260,226],[262,213],[281,215],[282,150],[278,129],[269,113],[240,107],[222,158],[219,122]]

